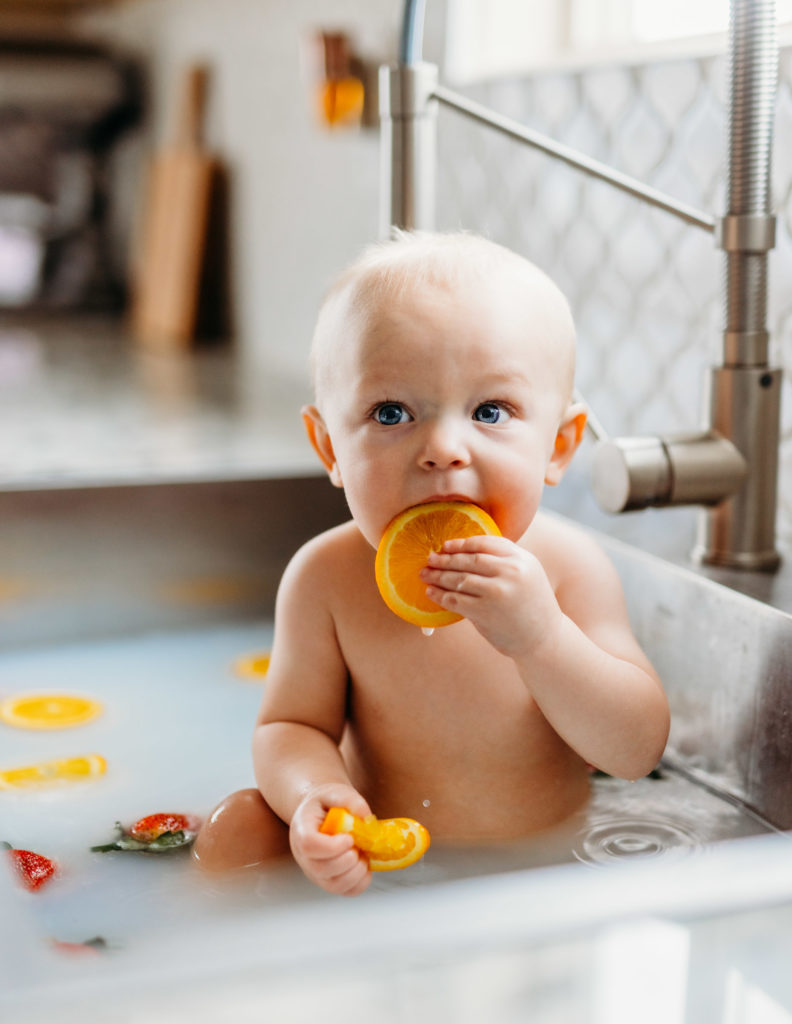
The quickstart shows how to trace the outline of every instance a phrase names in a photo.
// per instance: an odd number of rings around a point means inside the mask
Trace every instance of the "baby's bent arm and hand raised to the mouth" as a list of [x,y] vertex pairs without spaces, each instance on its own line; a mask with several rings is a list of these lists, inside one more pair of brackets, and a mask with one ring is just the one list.
[[535,554],[476,537],[430,557],[427,593],[513,658],[550,725],[589,764],[639,778],[665,746],[666,697],[632,634],[613,565],[581,531],[553,524],[550,532],[561,529],[554,589]]

